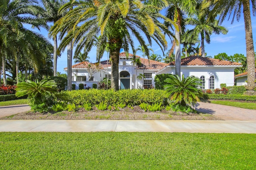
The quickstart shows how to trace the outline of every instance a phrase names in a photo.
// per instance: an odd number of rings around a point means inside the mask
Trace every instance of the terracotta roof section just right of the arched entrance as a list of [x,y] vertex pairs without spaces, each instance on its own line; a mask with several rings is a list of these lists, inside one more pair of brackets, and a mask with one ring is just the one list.
[[142,59],[142,58],[140,58],[140,63],[141,65],[138,66],[137,69],[143,69],[143,66],[145,66],[145,69],[148,69],[148,70],[161,70],[162,68],[168,65],[166,63],[162,63],[154,60]]

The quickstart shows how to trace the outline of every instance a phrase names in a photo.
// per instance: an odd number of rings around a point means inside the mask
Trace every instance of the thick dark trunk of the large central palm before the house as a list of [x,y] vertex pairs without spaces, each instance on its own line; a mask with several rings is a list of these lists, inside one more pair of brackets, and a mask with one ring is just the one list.
[[116,47],[115,49],[110,48],[110,59],[111,59],[111,88],[114,90],[118,90],[118,82],[119,82],[119,54],[121,47]]

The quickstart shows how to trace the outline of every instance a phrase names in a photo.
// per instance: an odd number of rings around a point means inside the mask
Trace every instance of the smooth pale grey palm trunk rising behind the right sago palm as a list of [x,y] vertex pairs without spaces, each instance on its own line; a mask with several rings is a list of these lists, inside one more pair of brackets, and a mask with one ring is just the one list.
[[180,56],[180,31],[175,29],[175,74],[180,77],[180,67],[181,67],[181,56]]

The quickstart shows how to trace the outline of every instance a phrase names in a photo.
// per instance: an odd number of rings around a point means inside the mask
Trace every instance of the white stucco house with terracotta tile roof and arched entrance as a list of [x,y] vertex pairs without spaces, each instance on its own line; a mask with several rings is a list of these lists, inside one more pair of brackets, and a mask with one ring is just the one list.
[[[125,53],[119,55],[119,88],[137,89],[143,86],[154,86],[154,78],[157,74],[175,74],[175,63],[162,63],[143,59],[136,55],[141,64],[134,64],[133,55],[126,57]],[[86,84],[92,87],[103,78],[111,78],[110,61],[101,61],[97,64],[98,70],[90,75],[90,68],[96,63],[82,62],[72,66],[72,84]],[[227,86],[234,85],[234,69],[242,66],[241,63],[222,61],[219,59],[209,59],[206,57],[190,56],[181,60],[181,74],[184,76],[196,76],[202,80],[202,89],[220,88],[220,84]],[[64,68],[67,71],[67,68]],[[95,71],[95,70],[94,70]],[[138,78],[144,75],[144,78]],[[140,77],[140,76],[139,76]],[[89,80],[90,78],[90,80]]]

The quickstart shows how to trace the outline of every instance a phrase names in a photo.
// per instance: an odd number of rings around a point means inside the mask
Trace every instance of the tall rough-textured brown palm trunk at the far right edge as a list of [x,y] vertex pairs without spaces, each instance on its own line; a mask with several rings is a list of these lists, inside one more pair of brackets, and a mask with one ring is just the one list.
[[255,58],[254,46],[252,39],[252,22],[250,14],[249,0],[243,0],[244,13],[244,27],[245,27],[245,41],[246,41],[246,62],[247,62],[247,90],[254,90],[255,88]]

